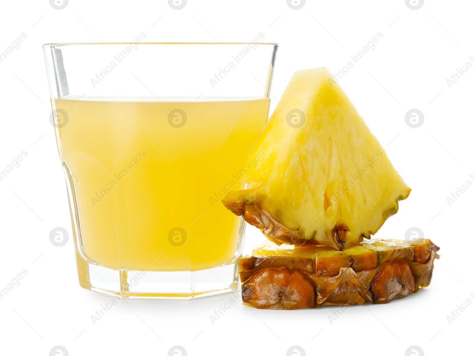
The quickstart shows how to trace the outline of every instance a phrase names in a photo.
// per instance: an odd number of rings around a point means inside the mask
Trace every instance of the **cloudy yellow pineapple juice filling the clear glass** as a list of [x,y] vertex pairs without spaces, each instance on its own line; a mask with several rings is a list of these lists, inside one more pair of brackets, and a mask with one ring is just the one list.
[[232,260],[241,219],[220,199],[244,188],[269,104],[55,99],[67,113],[56,138],[74,183],[84,256],[146,271]]

